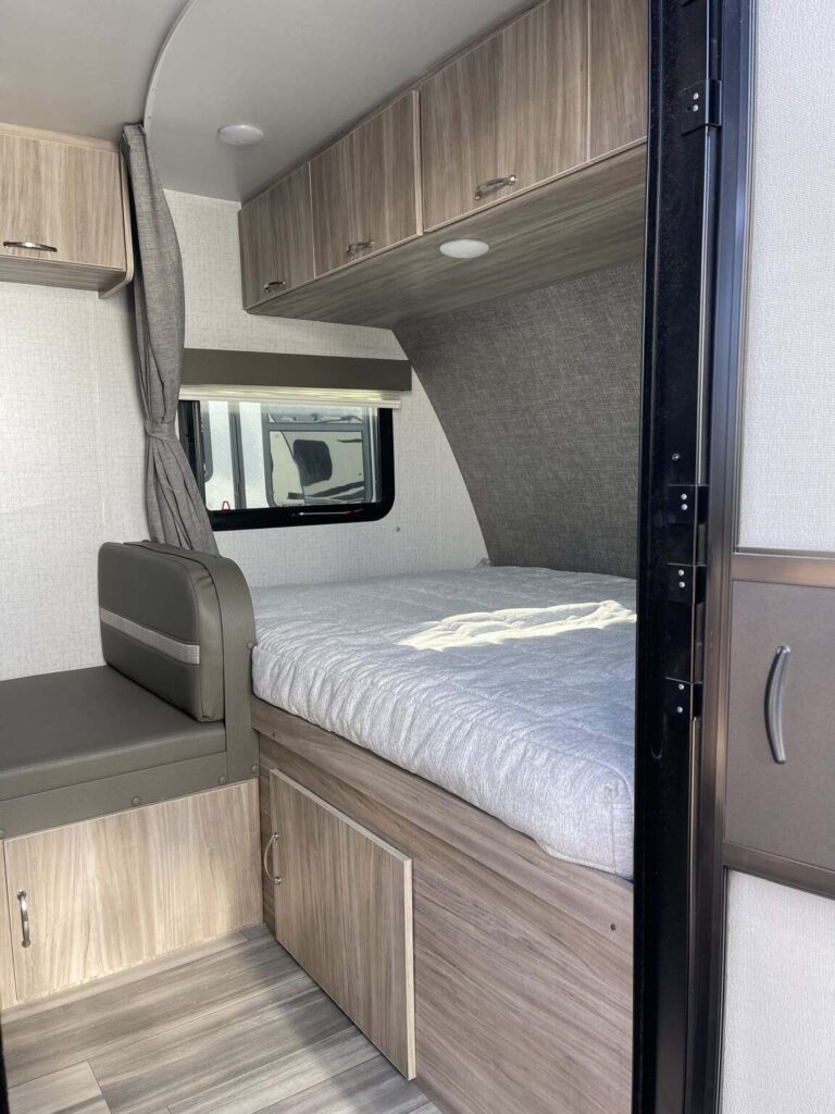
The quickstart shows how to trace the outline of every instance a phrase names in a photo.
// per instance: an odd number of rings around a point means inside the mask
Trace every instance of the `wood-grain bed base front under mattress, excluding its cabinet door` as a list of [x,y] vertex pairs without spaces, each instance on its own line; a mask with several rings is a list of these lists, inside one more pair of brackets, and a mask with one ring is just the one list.
[[257,698],[253,724],[263,849],[277,770],[412,861],[416,1082],[439,1107],[628,1114],[631,883]]

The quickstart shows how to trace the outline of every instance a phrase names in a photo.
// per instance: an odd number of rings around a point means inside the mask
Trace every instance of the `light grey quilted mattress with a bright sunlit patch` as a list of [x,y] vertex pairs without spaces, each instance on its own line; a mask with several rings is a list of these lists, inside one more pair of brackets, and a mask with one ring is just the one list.
[[478,567],[253,600],[262,700],[631,877],[635,582]]

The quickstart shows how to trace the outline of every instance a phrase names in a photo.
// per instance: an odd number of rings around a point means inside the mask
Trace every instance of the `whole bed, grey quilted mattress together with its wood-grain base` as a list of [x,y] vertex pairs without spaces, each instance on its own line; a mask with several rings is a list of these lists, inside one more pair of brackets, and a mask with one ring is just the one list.
[[[445,1114],[628,1114],[633,582],[479,567],[253,597],[278,940]],[[404,906],[341,866],[363,833],[407,862]],[[348,907],[407,918],[405,965],[343,934]]]

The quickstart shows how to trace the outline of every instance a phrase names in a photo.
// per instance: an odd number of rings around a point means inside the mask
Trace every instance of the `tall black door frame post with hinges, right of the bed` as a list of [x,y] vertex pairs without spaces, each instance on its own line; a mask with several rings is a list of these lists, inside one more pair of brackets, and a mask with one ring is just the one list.
[[707,448],[724,2],[650,0],[633,1114],[695,1114],[689,1102],[692,823],[709,574]]

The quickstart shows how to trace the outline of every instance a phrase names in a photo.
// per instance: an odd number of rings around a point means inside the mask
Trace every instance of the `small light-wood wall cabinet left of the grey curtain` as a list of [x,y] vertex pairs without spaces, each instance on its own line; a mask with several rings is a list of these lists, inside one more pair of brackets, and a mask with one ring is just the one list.
[[107,294],[131,276],[118,148],[0,125],[0,281]]

